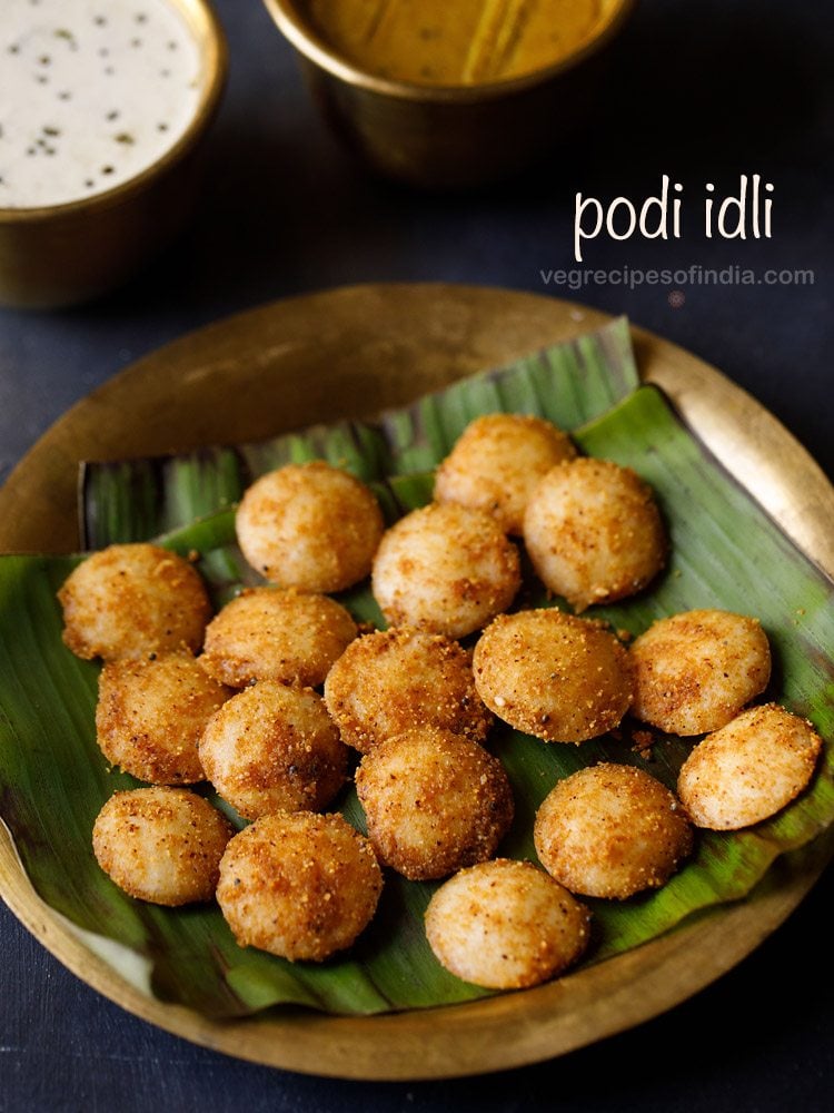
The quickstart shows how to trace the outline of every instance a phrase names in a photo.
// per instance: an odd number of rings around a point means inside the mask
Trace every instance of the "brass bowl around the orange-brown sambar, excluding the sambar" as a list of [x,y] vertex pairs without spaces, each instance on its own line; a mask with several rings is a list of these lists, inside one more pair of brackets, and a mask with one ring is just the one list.
[[596,37],[553,66],[502,81],[429,86],[378,77],[340,57],[311,23],[305,0],[264,2],[336,130],[376,169],[430,189],[507,177],[576,132],[635,6],[608,0],[613,13]]

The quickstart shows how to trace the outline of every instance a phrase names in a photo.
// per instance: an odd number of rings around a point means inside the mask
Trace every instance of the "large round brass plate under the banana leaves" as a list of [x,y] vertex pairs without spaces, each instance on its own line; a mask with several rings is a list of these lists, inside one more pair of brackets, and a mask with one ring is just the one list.
[[[76,405],[0,492],[0,549],[77,545],[79,460],[256,440],[337,416],[369,416],[483,367],[609,319],[532,294],[377,285],[278,302],[169,344]],[[805,553],[834,573],[834,489],[758,403],[695,356],[634,329],[646,380]],[[117,975],[29,885],[0,825],[0,894],[75,974],[177,1035],[241,1058],[346,1078],[434,1078],[533,1063],[656,1016],[749,954],[796,907],[831,839],[772,871],[746,900],[559,982],[447,1008],[377,1017],[274,1011],[217,1023],[147,997]],[[774,877],[777,880],[774,881]]]

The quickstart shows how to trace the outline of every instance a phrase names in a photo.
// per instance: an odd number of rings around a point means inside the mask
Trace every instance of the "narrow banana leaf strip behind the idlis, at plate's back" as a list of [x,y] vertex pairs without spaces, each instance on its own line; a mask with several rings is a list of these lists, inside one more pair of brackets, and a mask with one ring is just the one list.
[[287,463],[328,460],[366,482],[430,471],[478,414],[539,414],[572,430],[598,417],[639,383],[628,322],[483,372],[377,422],[317,425],[239,447],[170,457],[87,463],[80,530],[87,549],[147,541],[240,499],[251,481]]

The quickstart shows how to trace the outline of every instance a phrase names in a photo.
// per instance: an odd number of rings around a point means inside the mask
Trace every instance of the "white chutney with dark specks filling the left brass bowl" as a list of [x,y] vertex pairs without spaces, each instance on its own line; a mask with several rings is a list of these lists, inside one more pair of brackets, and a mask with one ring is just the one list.
[[201,81],[197,39],[167,0],[2,0],[0,208],[141,174],[188,129]]

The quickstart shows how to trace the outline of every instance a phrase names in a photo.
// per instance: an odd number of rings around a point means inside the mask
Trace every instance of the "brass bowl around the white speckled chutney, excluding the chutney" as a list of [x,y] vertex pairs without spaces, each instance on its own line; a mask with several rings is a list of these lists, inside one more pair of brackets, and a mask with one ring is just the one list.
[[201,140],[220,102],[228,59],[209,4],[172,2],[202,56],[192,120],[160,158],[112,189],[43,208],[0,208],[1,304],[51,308],[102,294],[168,243],[190,214]]

